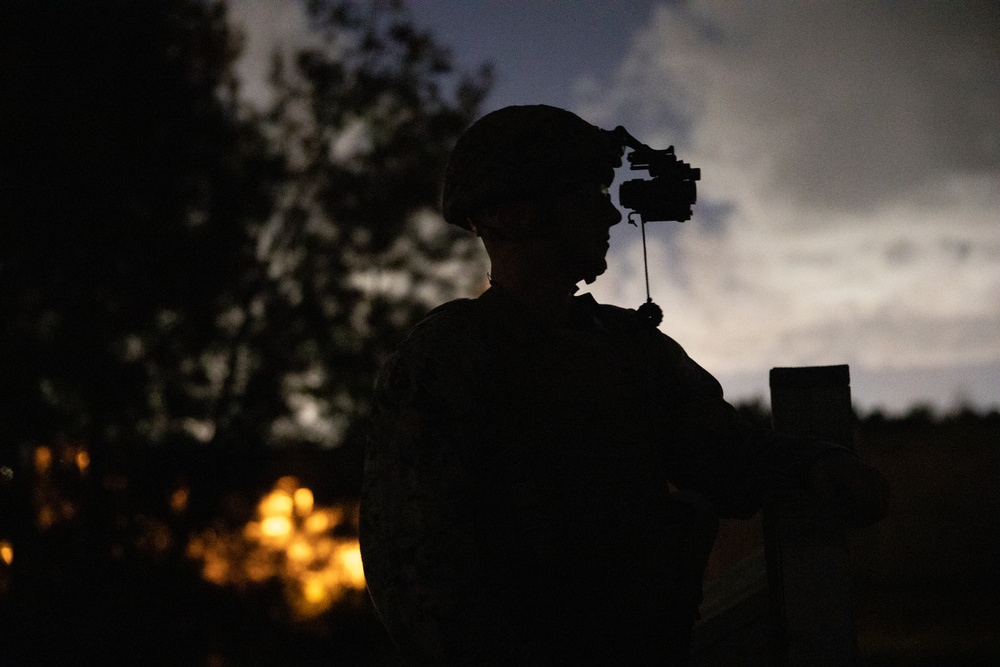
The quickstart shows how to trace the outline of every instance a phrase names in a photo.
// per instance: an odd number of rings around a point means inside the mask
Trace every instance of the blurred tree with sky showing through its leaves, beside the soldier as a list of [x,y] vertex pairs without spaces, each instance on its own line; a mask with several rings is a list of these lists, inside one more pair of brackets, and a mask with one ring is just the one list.
[[[482,275],[467,270],[473,239],[432,211],[489,70],[459,77],[452,99],[448,52],[398,3],[309,12],[327,41],[293,67],[276,59],[277,101],[262,122],[286,180],[255,230],[266,273],[233,312],[228,342],[229,367],[248,371],[229,376],[219,419],[229,437],[356,445],[381,358],[430,305],[469,291],[465,276]],[[447,273],[448,261],[466,270]]]

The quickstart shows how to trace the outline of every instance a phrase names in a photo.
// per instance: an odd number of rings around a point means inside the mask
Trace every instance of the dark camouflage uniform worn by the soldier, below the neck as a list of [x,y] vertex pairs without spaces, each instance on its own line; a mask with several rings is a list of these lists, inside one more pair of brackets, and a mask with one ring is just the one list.
[[748,426],[635,311],[578,296],[545,327],[493,287],[380,375],[369,590],[407,664],[684,664],[704,563],[668,481],[747,517],[831,447]]

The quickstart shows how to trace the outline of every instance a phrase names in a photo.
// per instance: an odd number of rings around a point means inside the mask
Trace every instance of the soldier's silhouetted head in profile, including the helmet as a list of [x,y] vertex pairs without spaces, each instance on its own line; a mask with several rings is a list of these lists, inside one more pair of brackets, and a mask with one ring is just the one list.
[[452,152],[445,220],[482,237],[494,264],[503,252],[530,247],[553,270],[589,282],[606,268],[608,229],[621,219],[607,192],[621,152],[564,109],[499,109],[474,123]]

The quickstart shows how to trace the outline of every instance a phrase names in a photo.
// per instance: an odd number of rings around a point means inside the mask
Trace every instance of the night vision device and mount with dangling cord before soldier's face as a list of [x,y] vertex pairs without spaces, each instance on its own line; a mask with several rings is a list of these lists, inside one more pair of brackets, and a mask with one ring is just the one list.
[[646,171],[652,178],[625,181],[618,188],[618,201],[623,208],[631,209],[629,224],[635,225],[633,215],[639,216],[642,230],[642,264],[646,274],[646,303],[638,312],[645,320],[658,326],[663,321],[663,311],[649,296],[649,262],[646,260],[646,223],[659,221],[684,222],[691,219],[691,207],[698,200],[695,181],[701,179],[701,169],[677,159],[674,147],[654,150],[642,143],[619,125],[614,130],[603,130],[614,146],[628,154],[632,171]]

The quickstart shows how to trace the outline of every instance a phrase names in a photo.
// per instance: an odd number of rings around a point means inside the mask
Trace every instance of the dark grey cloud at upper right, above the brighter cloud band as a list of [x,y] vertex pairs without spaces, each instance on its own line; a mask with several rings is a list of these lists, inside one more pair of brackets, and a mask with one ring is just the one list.
[[661,5],[581,110],[630,116],[729,191],[750,174],[801,206],[867,210],[1000,170],[997,35],[995,3]]

